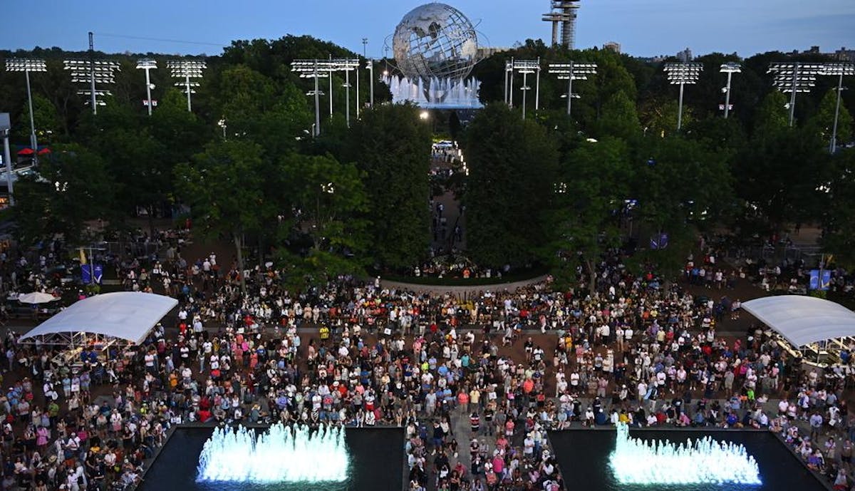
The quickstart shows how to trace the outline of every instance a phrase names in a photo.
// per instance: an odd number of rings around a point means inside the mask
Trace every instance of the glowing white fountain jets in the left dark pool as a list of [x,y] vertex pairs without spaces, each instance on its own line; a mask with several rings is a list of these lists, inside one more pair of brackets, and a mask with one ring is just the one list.
[[217,428],[199,455],[197,482],[343,482],[349,458],[345,429],[276,423],[254,429]]

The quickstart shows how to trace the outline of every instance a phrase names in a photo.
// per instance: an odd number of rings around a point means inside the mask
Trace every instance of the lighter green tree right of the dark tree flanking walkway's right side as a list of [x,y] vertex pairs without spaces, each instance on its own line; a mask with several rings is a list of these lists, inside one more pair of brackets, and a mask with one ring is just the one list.
[[575,258],[585,265],[590,290],[596,287],[596,264],[606,248],[620,245],[620,214],[632,198],[633,169],[621,139],[585,142],[561,166],[556,206],[549,225],[556,232],[547,251],[558,251],[559,269],[575,274]]

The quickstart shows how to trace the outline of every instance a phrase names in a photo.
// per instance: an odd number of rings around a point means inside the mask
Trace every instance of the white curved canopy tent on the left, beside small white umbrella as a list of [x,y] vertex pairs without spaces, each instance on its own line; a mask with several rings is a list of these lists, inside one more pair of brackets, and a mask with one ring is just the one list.
[[178,300],[153,293],[116,292],[80,300],[42,322],[21,340],[70,342],[75,334],[100,334],[139,344]]

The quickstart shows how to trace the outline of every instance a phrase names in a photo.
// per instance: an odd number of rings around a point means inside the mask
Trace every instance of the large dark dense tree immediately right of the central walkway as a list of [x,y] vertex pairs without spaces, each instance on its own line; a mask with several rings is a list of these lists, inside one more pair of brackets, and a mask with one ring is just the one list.
[[467,247],[476,263],[532,262],[548,240],[545,212],[557,185],[556,143],[534,121],[489,104],[466,133]]

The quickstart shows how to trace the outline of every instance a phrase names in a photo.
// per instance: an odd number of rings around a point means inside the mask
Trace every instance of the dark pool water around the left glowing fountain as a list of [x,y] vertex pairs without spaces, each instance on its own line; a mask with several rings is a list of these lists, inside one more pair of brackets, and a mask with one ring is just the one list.
[[196,482],[199,453],[212,432],[211,428],[177,429],[145,475],[139,491],[399,491],[404,482],[404,430],[392,428],[347,429],[351,473],[346,482]]

